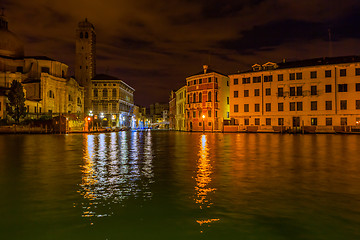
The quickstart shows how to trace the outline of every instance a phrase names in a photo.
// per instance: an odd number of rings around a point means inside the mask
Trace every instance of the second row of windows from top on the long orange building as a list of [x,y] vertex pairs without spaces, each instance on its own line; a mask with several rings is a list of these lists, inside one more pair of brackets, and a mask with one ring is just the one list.
[[[347,92],[348,91],[348,84],[338,84],[338,92]],[[360,83],[355,84],[355,91],[360,91]],[[325,93],[332,92],[332,85],[325,85]],[[299,87],[290,87],[290,96],[303,96],[303,88],[302,86]],[[315,96],[318,95],[317,86],[310,87],[310,95]],[[260,96],[260,89],[254,89],[254,96]],[[271,88],[265,88],[265,96],[271,96]],[[278,88],[278,97],[284,97],[284,88]],[[234,91],[234,98],[239,97],[239,91]],[[249,90],[244,90],[244,97],[249,97]]]

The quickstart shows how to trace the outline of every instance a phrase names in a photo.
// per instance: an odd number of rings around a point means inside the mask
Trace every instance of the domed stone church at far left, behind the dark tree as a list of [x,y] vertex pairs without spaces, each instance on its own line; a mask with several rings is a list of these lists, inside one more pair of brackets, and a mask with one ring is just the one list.
[[45,56],[24,56],[24,47],[0,16],[0,118],[6,118],[7,92],[22,83],[27,118],[83,113],[84,89],[67,76],[68,66]]

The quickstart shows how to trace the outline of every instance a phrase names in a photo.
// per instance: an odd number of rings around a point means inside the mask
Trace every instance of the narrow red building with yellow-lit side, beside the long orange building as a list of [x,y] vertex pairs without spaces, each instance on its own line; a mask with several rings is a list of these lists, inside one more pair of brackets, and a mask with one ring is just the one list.
[[229,77],[203,66],[203,71],[186,78],[186,129],[222,131],[229,119]]

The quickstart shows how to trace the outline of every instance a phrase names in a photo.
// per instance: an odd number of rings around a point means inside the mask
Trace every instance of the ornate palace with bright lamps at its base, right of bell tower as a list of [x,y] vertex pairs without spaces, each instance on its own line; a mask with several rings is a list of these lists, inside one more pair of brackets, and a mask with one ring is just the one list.
[[92,80],[92,106],[94,120],[104,127],[131,127],[135,124],[134,88],[117,77],[98,74]]

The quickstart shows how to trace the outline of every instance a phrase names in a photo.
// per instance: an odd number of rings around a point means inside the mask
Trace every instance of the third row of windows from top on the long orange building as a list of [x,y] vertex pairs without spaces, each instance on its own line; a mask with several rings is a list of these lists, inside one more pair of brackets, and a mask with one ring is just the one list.
[[[347,110],[347,100],[340,100],[340,110]],[[360,109],[360,100],[355,100],[355,109]],[[249,112],[249,104],[244,104],[244,112]],[[316,111],[318,109],[318,101],[310,102],[310,110]],[[325,110],[333,110],[332,101],[325,101]],[[265,103],[265,111],[271,112],[271,103]],[[284,111],[284,103],[278,103],[278,111]],[[289,111],[303,111],[303,102],[290,102]],[[239,112],[239,105],[234,104],[234,112]],[[260,104],[255,103],[254,112],[260,112]]]

